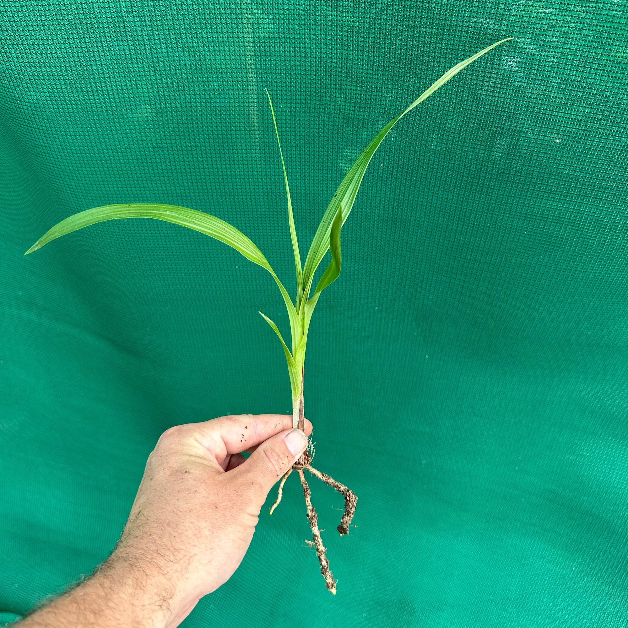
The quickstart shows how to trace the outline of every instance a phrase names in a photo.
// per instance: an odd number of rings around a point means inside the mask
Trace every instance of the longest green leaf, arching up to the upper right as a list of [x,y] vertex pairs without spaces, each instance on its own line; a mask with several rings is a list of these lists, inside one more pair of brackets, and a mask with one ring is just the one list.
[[411,109],[414,109],[420,102],[423,102],[428,96],[433,94],[439,87],[445,85],[450,78],[453,78],[462,68],[467,67],[470,63],[473,63],[477,58],[482,57],[485,53],[495,46],[499,46],[504,41],[509,41],[514,39],[514,37],[508,37],[501,41],[497,41],[494,44],[490,45],[488,48],[484,48],[484,50],[480,50],[479,53],[473,55],[473,57],[469,57],[464,61],[458,63],[450,70],[447,70],[445,74],[443,74],[435,84],[431,85],[430,88],[426,89],[423,94],[421,94],[418,99],[414,100],[414,102],[406,109],[403,113],[399,114],[399,116],[393,118],[384,128],[377,133],[377,135],[371,140],[371,143],[362,151],[362,154],[355,160],[354,165],[351,166],[347,175],[342,180],[336,193],[333,195],[332,200],[327,206],[327,210],[323,215],[323,219],[320,221],[318,225],[317,232],[314,236],[314,239],[310,246],[310,251],[308,251],[308,256],[305,260],[305,266],[303,268],[303,285],[305,286],[305,298],[310,292],[311,282],[314,276],[316,269],[318,268],[318,264],[320,264],[321,260],[325,256],[327,249],[329,247],[329,235],[332,229],[332,222],[337,214],[338,207],[342,204],[344,207],[343,210],[343,223],[347,220],[355,201],[355,196],[360,187],[360,183],[362,183],[362,178],[364,178],[364,173],[369,165],[372,156],[375,154],[377,147],[382,143],[382,140],[386,137],[388,132],[393,128],[393,126],[405,116]]

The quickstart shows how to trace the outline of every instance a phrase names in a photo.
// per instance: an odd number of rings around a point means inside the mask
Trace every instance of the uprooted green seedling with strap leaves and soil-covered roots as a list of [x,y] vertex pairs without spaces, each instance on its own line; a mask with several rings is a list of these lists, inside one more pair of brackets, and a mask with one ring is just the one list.
[[[340,274],[340,268],[342,264],[342,257],[340,254],[340,230],[344,224],[349,213],[351,212],[355,197],[357,195],[360,183],[364,177],[364,173],[371,161],[372,156],[379,144],[386,137],[388,132],[398,122],[398,120],[405,116],[411,109],[414,109],[420,102],[425,100],[428,96],[433,94],[441,85],[447,83],[450,78],[453,78],[462,68],[466,67],[470,63],[474,62],[477,58],[484,55],[495,46],[514,39],[509,37],[507,39],[497,41],[488,48],[484,48],[479,53],[473,55],[453,68],[445,72],[436,82],[431,85],[423,94],[414,100],[414,102],[399,114],[393,118],[386,126],[384,126],[379,133],[371,140],[371,143],[362,151],[360,156],[355,160],[355,163],[349,169],[347,175],[342,180],[336,193],[330,200],[327,210],[323,215],[320,224],[318,225],[317,232],[311,243],[310,250],[308,251],[305,259],[305,265],[301,266],[301,256],[299,253],[299,245],[296,239],[295,219],[292,211],[292,202],[290,199],[290,189],[288,188],[288,176],[286,175],[286,166],[283,160],[283,154],[281,153],[281,143],[279,143],[279,132],[277,130],[277,122],[274,115],[273,103],[271,102],[268,92],[268,100],[271,107],[271,113],[273,114],[274,129],[277,136],[277,142],[279,144],[279,155],[281,156],[281,165],[283,166],[283,177],[286,186],[286,197],[288,198],[288,221],[290,223],[290,237],[292,241],[293,252],[295,256],[295,268],[296,268],[296,299],[295,302],[290,298],[288,291],[284,288],[278,276],[271,268],[266,257],[255,246],[255,244],[246,237],[242,232],[232,227],[228,222],[220,220],[219,218],[204,212],[198,212],[197,210],[189,209],[187,207],[177,207],[176,205],[162,205],[160,203],[133,203],[124,205],[104,205],[103,207],[94,207],[85,212],[80,212],[70,216],[69,218],[62,220],[60,223],[48,230],[28,251],[26,254],[40,249],[48,242],[69,234],[82,227],[88,227],[97,222],[104,222],[104,220],[116,220],[124,218],[152,218],[157,220],[165,220],[166,222],[173,222],[188,229],[199,231],[206,236],[213,237],[220,242],[228,244],[230,247],[241,252],[244,257],[249,259],[255,264],[259,264],[265,268],[281,291],[284,303],[288,310],[288,317],[290,318],[290,331],[291,331],[291,349],[288,349],[288,345],[284,342],[281,332],[275,323],[270,320],[266,315],[260,314],[264,317],[266,322],[273,328],[273,331],[279,337],[281,346],[286,354],[286,361],[288,362],[288,373],[290,374],[290,385],[292,390],[292,416],[293,426],[304,429],[304,416],[303,416],[303,365],[305,363],[305,347],[308,338],[308,330],[310,328],[310,320],[322,293],[327,286],[338,278]],[[331,252],[331,261],[318,280],[317,286],[313,295],[310,296],[311,286],[314,279],[314,274],[327,254],[327,251]],[[314,507],[311,504],[310,487],[305,480],[303,470],[306,469],[312,475],[319,480],[332,486],[338,490],[345,498],[345,511],[338,526],[338,532],[341,535],[349,534],[349,524],[354,516],[355,504],[357,497],[352,490],[348,489],[344,484],[340,484],[336,480],[329,477],[314,467],[311,466],[311,449],[306,450],[301,457],[297,460],[293,469],[298,472],[301,479],[301,485],[303,486],[303,495],[305,496],[305,503],[307,507],[307,516],[310,521],[310,527],[313,534],[313,544],[317,550],[318,560],[321,566],[321,573],[325,578],[328,590],[335,594],[336,586],[332,572],[329,568],[329,561],[325,556],[325,546],[323,545],[320,531],[318,529],[317,514]],[[284,475],[281,483],[279,484],[279,491],[277,501],[271,508],[271,514],[281,501],[281,494],[283,491],[284,482],[290,475],[291,470]]]

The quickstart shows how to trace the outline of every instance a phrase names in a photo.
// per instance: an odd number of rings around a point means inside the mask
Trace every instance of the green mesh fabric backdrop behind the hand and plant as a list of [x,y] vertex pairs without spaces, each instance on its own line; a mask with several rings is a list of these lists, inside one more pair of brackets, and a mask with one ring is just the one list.
[[[291,411],[261,268],[157,221],[51,225],[116,202],[232,222],[293,276],[273,96],[301,246],[399,122],[315,313],[296,480],[185,627],[620,626],[628,620],[625,0],[3,0],[0,618],[104,560],[160,433]],[[293,284],[290,283],[292,286]],[[291,289],[292,290],[292,289]],[[0,624],[2,622],[0,621]]]

